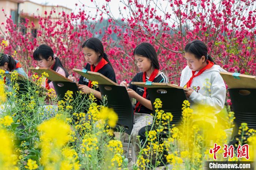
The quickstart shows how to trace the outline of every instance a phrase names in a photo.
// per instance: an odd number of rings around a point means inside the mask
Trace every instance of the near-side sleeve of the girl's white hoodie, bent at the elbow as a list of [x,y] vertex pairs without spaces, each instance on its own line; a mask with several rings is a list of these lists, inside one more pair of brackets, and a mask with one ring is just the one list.
[[203,96],[203,94],[193,91],[189,99],[195,104],[208,105],[221,111],[226,100],[226,86],[219,73],[212,76],[211,79],[211,96]]

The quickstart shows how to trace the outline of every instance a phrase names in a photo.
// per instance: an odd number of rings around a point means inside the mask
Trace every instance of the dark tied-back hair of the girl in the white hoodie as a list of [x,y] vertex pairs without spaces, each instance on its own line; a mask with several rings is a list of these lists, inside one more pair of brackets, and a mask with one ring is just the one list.
[[204,56],[206,60],[208,59],[215,64],[212,57],[208,54],[207,46],[201,40],[196,39],[187,43],[185,52],[194,54],[197,59],[201,59]]

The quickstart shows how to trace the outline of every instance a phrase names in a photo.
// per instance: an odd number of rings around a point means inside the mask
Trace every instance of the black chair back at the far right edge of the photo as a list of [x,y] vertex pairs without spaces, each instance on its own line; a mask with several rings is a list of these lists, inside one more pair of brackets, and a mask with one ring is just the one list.
[[248,128],[256,129],[256,89],[229,89],[229,94],[237,127],[247,123]]

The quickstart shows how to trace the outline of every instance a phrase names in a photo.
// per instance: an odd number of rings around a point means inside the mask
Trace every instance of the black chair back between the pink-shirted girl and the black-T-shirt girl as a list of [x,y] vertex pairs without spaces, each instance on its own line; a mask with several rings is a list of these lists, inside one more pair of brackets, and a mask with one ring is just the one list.
[[73,98],[76,98],[76,93],[79,91],[75,82],[53,81],[53,86],[59,100],[63,100],[67,91],[73,92]]

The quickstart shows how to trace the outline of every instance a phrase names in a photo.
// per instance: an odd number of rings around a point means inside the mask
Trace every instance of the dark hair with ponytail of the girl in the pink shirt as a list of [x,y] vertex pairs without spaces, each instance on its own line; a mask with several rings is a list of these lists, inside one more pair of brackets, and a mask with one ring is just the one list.
[[[42,44],[39,47],[37,47],[37,49],[33,53],[33,58],[37,61],[42,59],[48,60],[50,56],[54,58],[53,50],[51,47],[45,44]],[[65,77],[68,77],[69,74],[67,70],[63,67],[60,59],[58,57],[55,57],[55,64],[53,66],[53,70],[56,71],[58,67],[61,67],[65,71]]]

